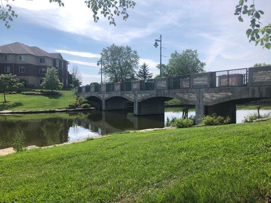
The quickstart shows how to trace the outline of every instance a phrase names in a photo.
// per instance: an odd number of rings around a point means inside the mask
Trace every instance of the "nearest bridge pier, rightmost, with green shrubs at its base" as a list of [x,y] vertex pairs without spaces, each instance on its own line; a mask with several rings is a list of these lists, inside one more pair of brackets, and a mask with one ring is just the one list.
[[230,117],[230,123],[236,123],[236,104],[228,101],[212,106],[196,105],[196,124],[201,122],[204,115],[217,114],[218,116]]

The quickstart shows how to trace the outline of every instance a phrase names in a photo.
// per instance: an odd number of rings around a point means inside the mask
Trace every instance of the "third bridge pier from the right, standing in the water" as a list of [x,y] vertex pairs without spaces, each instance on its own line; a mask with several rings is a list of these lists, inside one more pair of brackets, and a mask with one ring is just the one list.
[[102,110],[126,110],[127,109],[127,100],[122,97],[112,97],[108,100],[103,100]]

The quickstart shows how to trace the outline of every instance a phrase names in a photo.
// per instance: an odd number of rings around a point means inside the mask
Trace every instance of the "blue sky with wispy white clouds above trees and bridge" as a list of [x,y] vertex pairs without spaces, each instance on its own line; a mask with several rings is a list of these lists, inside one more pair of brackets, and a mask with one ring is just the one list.
[[[206,63],[205,70],[221,71],[251,67],[255,63],[271,63],[271,51],[249,43],[246,30],[249,18],[238,21],[233,15],[238,0],[134,0],[129,18],[115,17],[116,26],[93,14],[84,0],[63,0],[59,7],[49,0],[10,1],[18,18],[6,29],[0,23],[0,44],[21,42],[47,52],[60,52],[79,66],[83,85],[100,82],[97,61],[103,48],[113,43],[129,45],[137,50],[140,64],[146,62],[157,75],[160,50],[153,45],[162,35],[162,62],[167,63],[173,51],[198,50]],[[252,3],[252,0],[248,0]],[[258,0],[256,9],[263,10],[263,24],[270,23],[270,0]]]

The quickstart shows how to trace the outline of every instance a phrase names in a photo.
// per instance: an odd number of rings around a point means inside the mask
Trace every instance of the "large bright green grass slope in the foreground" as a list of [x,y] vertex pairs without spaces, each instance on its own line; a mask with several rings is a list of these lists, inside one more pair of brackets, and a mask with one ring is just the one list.
[[0,157],[0,202],[265,202],[271,120],[113,134]]

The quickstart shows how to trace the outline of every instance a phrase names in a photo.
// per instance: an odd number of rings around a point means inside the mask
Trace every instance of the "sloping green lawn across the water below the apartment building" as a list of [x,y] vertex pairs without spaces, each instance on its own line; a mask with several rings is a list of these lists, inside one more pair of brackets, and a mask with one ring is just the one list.
[[0,111],[63,109],[68,107],[76,98],[74,90],[59,92],[61,92],[60,95],[49,96],[7,94],[7,103],[3,103],[4,95],[0,94]]

